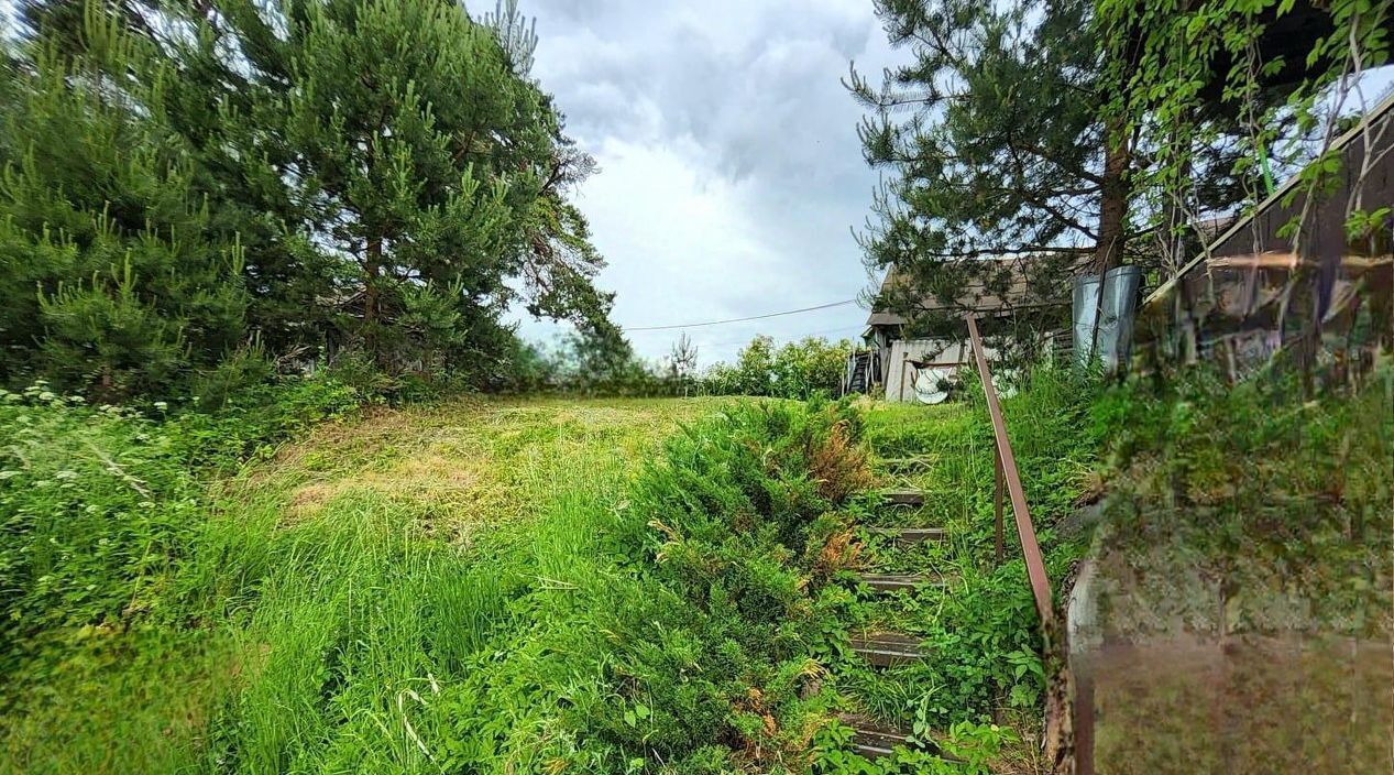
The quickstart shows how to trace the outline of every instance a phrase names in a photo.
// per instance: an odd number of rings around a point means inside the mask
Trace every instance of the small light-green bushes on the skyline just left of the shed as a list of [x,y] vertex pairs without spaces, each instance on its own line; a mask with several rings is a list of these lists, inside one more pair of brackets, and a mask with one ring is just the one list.
[[757,336],[740,350],[735,364],[710,367],[700,386],[712,396],[832,397],[842,386],[850,350],[848,340],[811,336],[775,348],[771,337]]

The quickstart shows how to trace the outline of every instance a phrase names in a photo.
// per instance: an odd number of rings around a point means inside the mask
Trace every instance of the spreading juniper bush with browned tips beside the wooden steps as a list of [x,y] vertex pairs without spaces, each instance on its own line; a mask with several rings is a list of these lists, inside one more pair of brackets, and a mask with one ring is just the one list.
[[588,708],[591,735],[675,772],[811,762],[832,701],[810,657],[813,581],[846,532],[834,510],[870,481],[859,435],[845,408],[779,404],[669,440],[625,512],[645,602],[611,627],[612,700]]

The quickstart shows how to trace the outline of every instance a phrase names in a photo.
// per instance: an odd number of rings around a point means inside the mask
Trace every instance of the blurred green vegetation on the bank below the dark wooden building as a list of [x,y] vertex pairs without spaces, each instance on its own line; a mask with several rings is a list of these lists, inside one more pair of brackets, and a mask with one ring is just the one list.
[[1104,552],[1178,581],[1126,588],[1112,624],[1146,630],[1154,605],[1196,630],[1387,631],[1391,385],[1386,362],[1359,393],[1315,400],[1291,376],[1203,369],[1114,390],[1094,413],[1115,439]]

